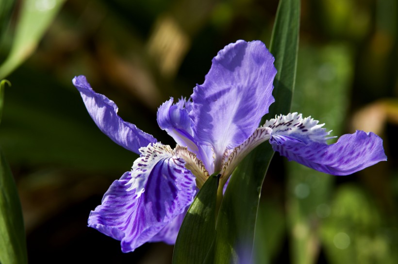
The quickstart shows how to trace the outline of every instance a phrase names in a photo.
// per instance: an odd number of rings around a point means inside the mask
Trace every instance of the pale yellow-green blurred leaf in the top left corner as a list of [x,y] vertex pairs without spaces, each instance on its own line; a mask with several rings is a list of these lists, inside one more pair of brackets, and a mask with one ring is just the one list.
[[65,0],[22,1],[10,54],[0,66],[0,79],[10,74],[36,46]]

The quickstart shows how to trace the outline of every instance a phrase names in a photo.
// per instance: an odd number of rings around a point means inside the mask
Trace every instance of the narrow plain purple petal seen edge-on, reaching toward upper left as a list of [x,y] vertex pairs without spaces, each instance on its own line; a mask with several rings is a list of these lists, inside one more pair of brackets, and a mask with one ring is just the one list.
[[139,154],[139,148],[157,142],[152,135],[120,118],[114,101],[94,92],[83,75],[73,78],[72,82],[79,90],[91,118],[114,142],[137,154]]

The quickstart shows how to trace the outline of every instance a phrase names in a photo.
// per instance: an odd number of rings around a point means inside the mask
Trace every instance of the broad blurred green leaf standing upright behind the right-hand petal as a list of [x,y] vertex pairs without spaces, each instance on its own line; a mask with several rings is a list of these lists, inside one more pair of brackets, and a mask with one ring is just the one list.
[[[327,124],[327,130],[333,128],[332,136],[340,135],[352,78],[350,52],[338,45],[321,48],[302,45],[301,54],[307,60],[301,60],[298,65],[293,111],[300,111],[304,116],[313,113],[313,118]],[[317,229],[325,216],[322,212],[328,211],[335,177],[293,162],[287,168],[287,217],[292,262],[315,263],[321,246]]]

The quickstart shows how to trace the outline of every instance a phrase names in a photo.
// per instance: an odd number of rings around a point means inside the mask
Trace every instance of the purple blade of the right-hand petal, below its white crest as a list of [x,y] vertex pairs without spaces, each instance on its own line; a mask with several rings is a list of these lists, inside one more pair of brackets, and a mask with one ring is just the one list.
[[269,142],[289,161],[332,175],[352,174],[387,160],[382,139],[372,132],[345,134],[332,145],[315,141],[304,143],[290,136],[272,136]]

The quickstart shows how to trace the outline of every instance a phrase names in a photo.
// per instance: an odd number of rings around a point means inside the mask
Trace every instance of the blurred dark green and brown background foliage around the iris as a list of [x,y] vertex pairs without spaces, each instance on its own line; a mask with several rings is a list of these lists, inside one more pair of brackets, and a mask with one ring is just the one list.
[[[123,254],[87,228],[136,154],[103,135],[72,85],[86,75],[119,115],[165,144],[156,122],[189,97],[217,51],[268,45],[277,0],[0,0],[0,146],[21,198],[30,263],[170,263],[172,246]],[[381,136],[388,162],[345,177],[276,154],[265,177],[255,263],[393,264],[398,259],[398,4],[302,0],[292,111]],[[332,142],[333,140],[331,140]]]

